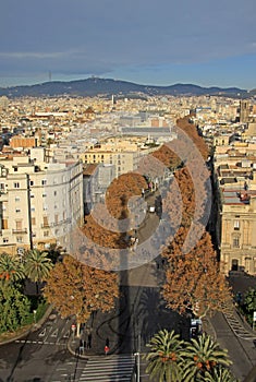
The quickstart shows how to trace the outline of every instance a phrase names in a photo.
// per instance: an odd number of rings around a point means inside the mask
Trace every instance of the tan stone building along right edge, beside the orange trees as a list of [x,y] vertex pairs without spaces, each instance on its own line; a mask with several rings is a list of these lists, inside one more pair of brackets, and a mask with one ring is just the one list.
[[227,151],[215,162],[216,236],[224,274],[256,274],[256,156]]

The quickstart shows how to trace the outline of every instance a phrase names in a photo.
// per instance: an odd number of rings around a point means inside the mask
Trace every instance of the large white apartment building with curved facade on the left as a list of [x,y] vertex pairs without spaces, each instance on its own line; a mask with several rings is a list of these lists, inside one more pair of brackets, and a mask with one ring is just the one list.
[[50,242],[64,248],[66,232],[83,217],[81,163],[46,164],[25,155],[0,160],[1,251],[44,249]]

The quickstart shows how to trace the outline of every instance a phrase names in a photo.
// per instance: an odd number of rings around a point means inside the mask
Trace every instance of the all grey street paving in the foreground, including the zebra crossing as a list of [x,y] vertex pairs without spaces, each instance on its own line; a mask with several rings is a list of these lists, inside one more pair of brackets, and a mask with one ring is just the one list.
[[[147,213],[146,224],[137,231],[139,243],[150,237],[159,223],[156,213]],[[141,381],[149,381],[143,354],[147,351],[146,344],[151,336],[161,329],[168,329],[188,339],[190,332],[188,320],[166,308],[160,296],[163,277],[159,256],[119,272],[120,298],[117,306],[108,313],[95,313],[85,324],[82,338],[88,343],[89,334],[90,346],[83,346],[82,357],[77,353],[81,338],[76,338],[72,331],[74,319],[61,319],[56,312],[37,331],[1,345],[0,382],[106,382],[108,373],[113,373],[115,381],[129,381],[138,360]],[[256,348],[253,337],[244,339],[246,333],[237,320],[232,311],[227,311],[225,317],[216,313],[210,323],[216,339],[229,350],[234,375],[243,381],[256,363]],[[240,334],[243,338],[237,336]],[[107,342],[109,354],[106,357]]]

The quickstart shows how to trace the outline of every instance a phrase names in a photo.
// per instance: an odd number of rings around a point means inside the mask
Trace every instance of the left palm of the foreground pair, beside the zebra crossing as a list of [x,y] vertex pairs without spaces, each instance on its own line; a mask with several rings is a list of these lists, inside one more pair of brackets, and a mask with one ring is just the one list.
[[166,329],[158,332],[147,344],[150,353],[146,356],[148,366],[146,371],[150,378],[159,382],[181,381],[182,351],[184,342],[174,331]]

